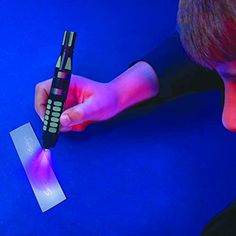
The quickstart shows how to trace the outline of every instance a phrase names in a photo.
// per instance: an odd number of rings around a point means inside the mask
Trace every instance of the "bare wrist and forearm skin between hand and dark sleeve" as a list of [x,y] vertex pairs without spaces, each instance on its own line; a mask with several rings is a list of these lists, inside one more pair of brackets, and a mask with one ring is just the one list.
[[117,94],[119,112],[150,99],[159,92],[159,83],[155,71],[143,61],[133,65],[109,84]]

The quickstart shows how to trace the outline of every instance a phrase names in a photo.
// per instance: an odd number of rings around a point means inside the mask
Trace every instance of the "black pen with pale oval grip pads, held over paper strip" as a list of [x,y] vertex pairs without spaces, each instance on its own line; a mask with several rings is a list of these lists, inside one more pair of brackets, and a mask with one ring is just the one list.
[[44,116],[42,137],[44,149],[54,147],[58,139],[60,116],[63,112],[70,85],[75,39],[75,32],[65,31]]

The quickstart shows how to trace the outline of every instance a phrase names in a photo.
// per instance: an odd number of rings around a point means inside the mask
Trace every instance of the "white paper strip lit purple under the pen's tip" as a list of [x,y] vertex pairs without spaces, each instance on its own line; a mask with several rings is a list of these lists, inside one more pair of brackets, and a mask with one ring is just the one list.
[[66,197],[51,167],[50,153],[45,154],[30,123],[10,135],[42,212],[64,201]]

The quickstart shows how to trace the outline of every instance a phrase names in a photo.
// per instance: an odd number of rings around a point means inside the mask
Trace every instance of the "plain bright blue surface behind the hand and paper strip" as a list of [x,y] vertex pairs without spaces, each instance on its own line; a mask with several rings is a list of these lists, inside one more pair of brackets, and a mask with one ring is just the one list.
[[175,29],[177,1],[0,3],[0,235],[199,235],[236,194],[219,92],[61,134],[53,163],[67,200],[46,213],[9,136],[29,121],[41,136],[34,87],[53,75],[64,30],[78,33],[74,73],[107,82]]

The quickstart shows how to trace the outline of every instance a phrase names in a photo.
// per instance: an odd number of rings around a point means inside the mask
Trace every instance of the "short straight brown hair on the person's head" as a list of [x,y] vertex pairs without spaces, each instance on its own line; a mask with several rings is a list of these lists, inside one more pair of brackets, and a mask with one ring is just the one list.
[[236,60],[236,0],[180,0],[180,39],[198,64],[214,69]]

